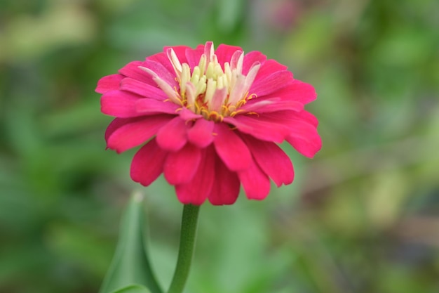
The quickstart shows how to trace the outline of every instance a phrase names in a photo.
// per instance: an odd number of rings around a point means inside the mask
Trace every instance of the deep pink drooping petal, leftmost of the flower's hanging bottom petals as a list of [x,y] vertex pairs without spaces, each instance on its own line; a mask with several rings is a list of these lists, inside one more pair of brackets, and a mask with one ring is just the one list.
[[168,152],[158,147],[156,140],[151,139],[133,157],[130,175],[133,181],[144,186],[153,183],[163,172],[163,164]]

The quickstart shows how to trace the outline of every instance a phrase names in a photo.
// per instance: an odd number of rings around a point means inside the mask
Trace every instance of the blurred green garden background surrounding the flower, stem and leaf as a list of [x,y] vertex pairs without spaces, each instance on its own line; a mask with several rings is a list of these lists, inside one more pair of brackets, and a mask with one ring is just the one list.
[[201,209],[191,293],[439,292],[439,2],[1,0],[0,292],[97,292],[130,193],[152,262],[181,204],[105,151],[100,77],[163,46],[262,51],[316,87],[323,149],[295,182]]

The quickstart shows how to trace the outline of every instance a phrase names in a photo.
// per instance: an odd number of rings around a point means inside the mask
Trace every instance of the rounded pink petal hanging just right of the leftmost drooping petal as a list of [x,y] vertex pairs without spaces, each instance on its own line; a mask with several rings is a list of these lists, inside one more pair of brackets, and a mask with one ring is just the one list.
[[191,143],[187,143],[177,152],[170,152],[164,167],[166,180],[172,185],[191,181],[200,160],[201,150]]

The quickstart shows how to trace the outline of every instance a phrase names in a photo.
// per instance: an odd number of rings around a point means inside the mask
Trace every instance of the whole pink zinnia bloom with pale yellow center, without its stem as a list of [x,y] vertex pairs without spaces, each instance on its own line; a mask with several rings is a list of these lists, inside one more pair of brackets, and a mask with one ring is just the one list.
[[316,117],[304,105],[313,87],[258,51],[212,42],[166,47],[100,79],[102,112],[116,117],[107,148],[138,145],[131,178],[149,185],[164,174],[183,204],[233,204],[240,185],[263,200],[270,178],[290,184],[288,141],[306,157],[320,150]]

